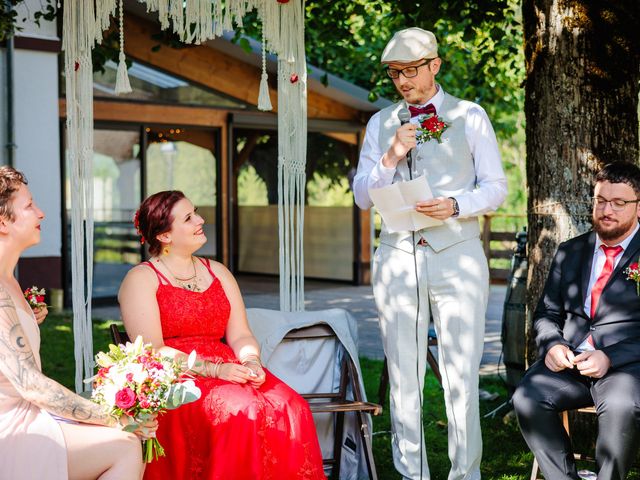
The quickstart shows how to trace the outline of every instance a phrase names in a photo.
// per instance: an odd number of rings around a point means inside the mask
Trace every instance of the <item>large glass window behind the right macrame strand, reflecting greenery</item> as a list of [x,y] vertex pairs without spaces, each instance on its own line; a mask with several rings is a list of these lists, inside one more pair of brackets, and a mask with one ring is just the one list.
[[[274,131],[235,129],[237,270],[278,273],[278,138]],[[357,147],[330,134],[307,138],[304,212],[305,276],[353,280],[353,175]]]

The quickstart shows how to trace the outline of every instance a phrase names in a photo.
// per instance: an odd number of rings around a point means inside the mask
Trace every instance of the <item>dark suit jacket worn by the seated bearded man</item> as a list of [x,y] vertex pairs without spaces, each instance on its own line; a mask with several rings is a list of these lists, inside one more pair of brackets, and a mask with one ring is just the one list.
[[591,319],[584,302],[595,242],[595,232],[589,232],[558,247],[534,314],[539,358],[557,344],[575,349],[591,334],[596,349],[611,360],[611,368],[640,361],[640,296],[636,282],[624,273],[640,256],[640,230],[622,254]]

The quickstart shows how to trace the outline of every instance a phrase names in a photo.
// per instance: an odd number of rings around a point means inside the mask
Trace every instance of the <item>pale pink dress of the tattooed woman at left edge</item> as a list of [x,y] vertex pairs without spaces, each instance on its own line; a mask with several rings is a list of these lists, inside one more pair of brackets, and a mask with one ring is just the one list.
[[[16,309],[36,364],[40,329],[33,313]],[[0,329],[9,331],[0,317]],[[67,450],[62,430],[51,415],[20,396],[0,372],[0,480],[66,480]]]

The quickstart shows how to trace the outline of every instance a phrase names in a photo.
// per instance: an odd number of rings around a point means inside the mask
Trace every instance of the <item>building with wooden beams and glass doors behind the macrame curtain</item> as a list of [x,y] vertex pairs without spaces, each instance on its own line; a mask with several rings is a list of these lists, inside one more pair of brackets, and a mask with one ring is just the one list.
[[[133,213],[143,198],[167,189],[184,191],[205,218],[208,242],[200,255],[236,273],[277,274],[277,117],[256,108],[259,44],[251,53],[225,38],[176,48],[158,40],[159,25],[144,7],[125,5],[133,92],[114,95],[113,62],[94,74],[94,299],[113,301],[127,270],[145,258]],[[21,283],[68,292],[71,205],[60,42],[55,26],[44,26],[47,35],[32,27],[16,38],[12,52],[13,78],[20,83],[14,105],[29,109],[15,122],[14,165],[27,173],[36,201],[42,204],[44,195],[48,218],[46,248],[23,259],[19,274]],[[273,105],[275,68],[271,59]],[[349,180],[366,121],[388,103],[371,103],[368,92],[330,75],[325,86],[322,75],[311,68],[308,81],[305,275],[363,283],[371,222],[354,206]],[[49,88],[38,90],[45,82]],[[33,131],[37,109],[47,112],[47,121],[44,130]],[[31,154],[35,146],[21,143],[29,137],[47,145],[38,158]]]

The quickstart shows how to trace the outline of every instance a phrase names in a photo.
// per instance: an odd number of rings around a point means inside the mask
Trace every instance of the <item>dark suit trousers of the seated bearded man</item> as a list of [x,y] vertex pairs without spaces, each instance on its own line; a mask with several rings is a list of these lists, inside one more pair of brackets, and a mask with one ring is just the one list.
[[623,480],[640,438],[640,363],[609,370],[600,379],[580,375],[575,368],[552,372],[543,360],[527,371],[513,395],[513,406],[545,478],[579,479],[558,413],[591,405],[598,416],[598,480]]

